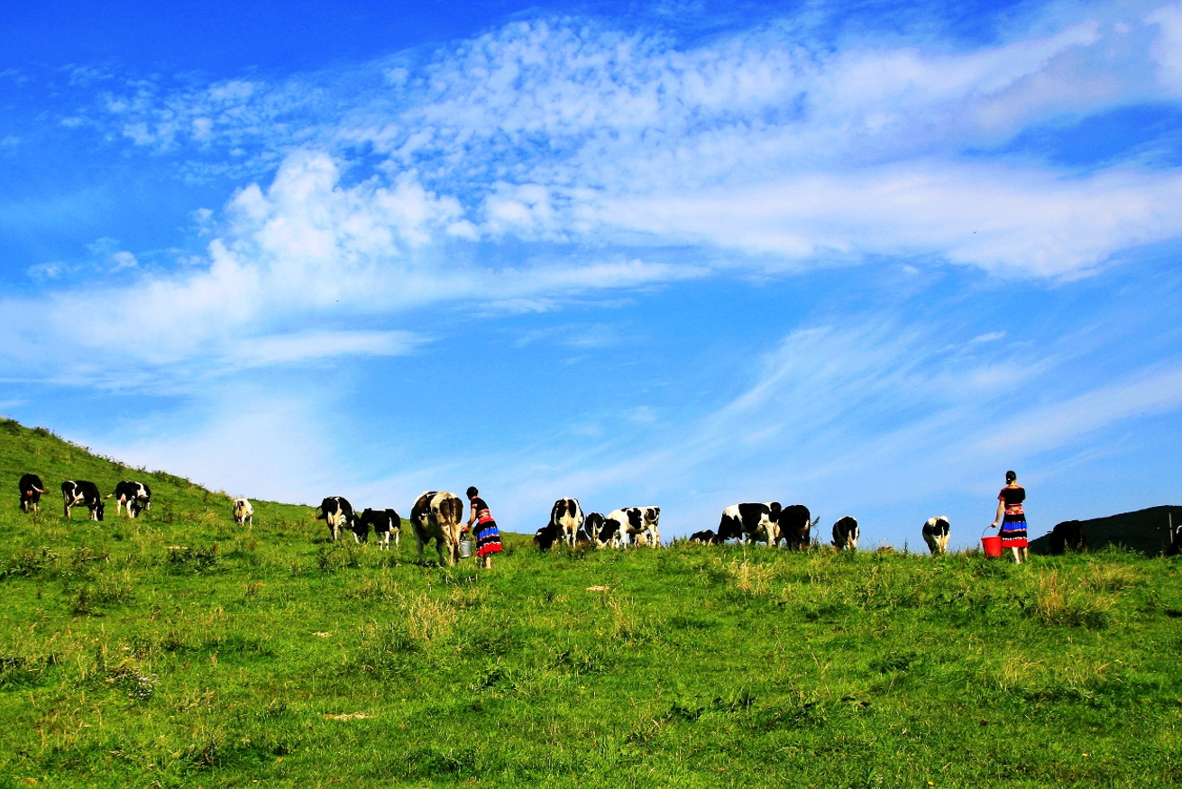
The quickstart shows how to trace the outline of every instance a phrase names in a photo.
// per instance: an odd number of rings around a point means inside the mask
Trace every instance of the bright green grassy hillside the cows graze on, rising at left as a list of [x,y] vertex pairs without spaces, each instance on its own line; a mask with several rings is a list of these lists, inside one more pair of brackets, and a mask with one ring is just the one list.
[[[22,515],[25,471],[152,509]],[[1182,784],[1178,560],[418,567],[15,422],[0,485],[0,788]]]

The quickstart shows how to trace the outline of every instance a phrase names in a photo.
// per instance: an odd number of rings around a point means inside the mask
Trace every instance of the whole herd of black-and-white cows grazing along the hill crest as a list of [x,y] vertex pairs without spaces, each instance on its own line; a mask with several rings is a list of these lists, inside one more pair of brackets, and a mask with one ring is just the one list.
[[[41,494],[46,492],[41,478],[37,474],[25,474],[20,478],[20,507],[25,512],[35,512],[40,505]],[[61,498],[65,505],[65,517],[70,517],[72,507],[85,506],[90,510],[91,520],[102,520],[105,510],[104,499],[116,500],[116,512],[126,507],[126,516],[137,517],[151,509],[151,489],[148,485],[124,479],[115,486],[115,492],[105,497],[100,494],[95,483],[67,479],[61,483]],[[234,522],[254,524],[254,507],[245,498],[233,502]],[[370,529],[377,538],[378,548],[389,549],[390,539],[400,544],[402,518],[392,509],[374,510],[366,507],[358,515],[352,504],[340,496],[330,496],[320,502],[316,518],[329,526],[332,539],[340,537],[343,529],[349,529],[357,543],[369,542]],[[808,507],[803,504],[780,506],[778,502],[753,504],[732,504],[722,511],[717,531],[707,529],[689,537],[689,542],[716,545],[730,539],[743,543],[762,542],[771,547],[804,549],[811,544],[812,530],[819,518],[810,519]],[[608,515],[599,512],[583,513],[583,507],[576,498],[561,498],[554,502],[550,511],[550,523],[539,529],[533,542],[539,549],[547,551],[556,544],[593,545],[596,548],[624,548],[628,545],[661,547],[661,507],[626,506],[612,510]],[[418,547],[418,561],[423,561],[423,545],[435,541],[435,550],[440,563],[455,564],[461,557],[463,531],[463,502],[446,491],[427,491],[415,499],[410,509],[410,528]],[[921,530],[923,541],[933,554],[948,551],[950,524],[947,516],[928,518]],[[832,545],[839,550],[853,550],[858,547],[860,531],[858,522],[845,516],[839,518],[832,529]],[[1076,551],[1085,550],[1087,541],[1083,525],[1078,520],[1060,523],[1051,532],[1051,551],[1061,554],[1064,548]],[[1182,552],[1182,524],[1173,535],[1173,542],[1167,555]]]

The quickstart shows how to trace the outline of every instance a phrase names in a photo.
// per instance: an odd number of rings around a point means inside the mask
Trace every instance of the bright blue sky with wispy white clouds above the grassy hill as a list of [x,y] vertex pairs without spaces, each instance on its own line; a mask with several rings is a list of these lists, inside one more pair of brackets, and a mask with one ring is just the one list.
[[0,413],[235,496],[1176,503],[1182,4],[82,4],[0,44]]

